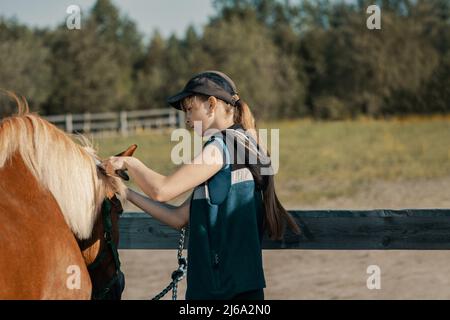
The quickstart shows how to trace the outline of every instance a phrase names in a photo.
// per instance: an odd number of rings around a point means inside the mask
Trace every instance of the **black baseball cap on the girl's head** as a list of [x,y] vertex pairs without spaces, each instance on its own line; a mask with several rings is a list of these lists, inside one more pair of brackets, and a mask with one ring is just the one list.
[[174,108],[182,110],[184,98],[194,94],[214,96],[232,106],[239,100],[233,80],[220,71],[204,71],[193,76],[179,93],[169,97],[167,102]]

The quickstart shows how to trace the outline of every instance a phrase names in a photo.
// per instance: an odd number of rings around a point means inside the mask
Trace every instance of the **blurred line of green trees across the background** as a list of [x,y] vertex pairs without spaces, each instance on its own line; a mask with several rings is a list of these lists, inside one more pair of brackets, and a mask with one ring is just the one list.
[[[380,30],[366,27],[372,4]],[[201,30],[149,41],[110,0],[83,14],[81,30],[2,17],[0,88],[42,114],[161,108],[193,74],[217,69],[262,119],[450,112],[448,0],[213,5]]]

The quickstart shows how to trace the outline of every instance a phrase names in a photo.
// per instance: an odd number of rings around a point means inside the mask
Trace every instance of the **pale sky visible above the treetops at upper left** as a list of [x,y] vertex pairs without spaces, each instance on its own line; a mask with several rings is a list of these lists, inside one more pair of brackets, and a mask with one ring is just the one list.
[[[54,27],[64,22],[66,9],[78,5],[87,12],[95,0],[0,0],[0,16],[16,17],[21,23],[37,27]],[[149,37],[155,28],[163,36],[182,36],[193,24],[197,29],[208,22],[214,9],[211,0],[113,0],[121,14],[126,14]]]

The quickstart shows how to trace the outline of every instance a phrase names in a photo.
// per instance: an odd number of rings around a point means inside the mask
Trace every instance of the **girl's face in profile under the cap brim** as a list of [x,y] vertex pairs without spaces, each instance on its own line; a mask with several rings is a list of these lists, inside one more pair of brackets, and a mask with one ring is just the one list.
[[190,97],[186,103],[183,103],[183,109],[186,112],[186,124],[199,136],[203,136],[205,131],[211,128],[214,122],[214,111],[207,99]]

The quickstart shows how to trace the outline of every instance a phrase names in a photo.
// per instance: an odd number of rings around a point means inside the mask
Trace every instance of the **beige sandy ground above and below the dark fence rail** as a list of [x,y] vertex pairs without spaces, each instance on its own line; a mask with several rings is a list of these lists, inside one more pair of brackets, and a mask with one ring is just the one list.
[[[379,182],[352,198],[291,208],[450,208],[450,177]],[[124,299],[152,297],[176,267],[175,250],[121,250],[120,258]],[[367,289],[369,265],[381,268],[380,290]],[[450,299],[449,251],[265,250],[264,268],[267,299]],[[181,299],[185,285],[184,280],[179,287]]]

